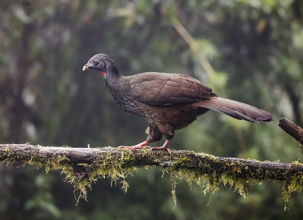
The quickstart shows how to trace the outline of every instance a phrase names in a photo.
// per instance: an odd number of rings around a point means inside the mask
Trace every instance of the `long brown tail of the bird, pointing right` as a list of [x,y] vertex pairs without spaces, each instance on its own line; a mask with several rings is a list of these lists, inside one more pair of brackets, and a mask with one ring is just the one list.
[[244,119],[250,122],[269,122],[272,120],[272,116],[269,112],[242,102],[237,102],[226,98],[212,97],[208,101],[200,102],[198,106],[202,108],[208,108],[216,112],[221,112],[233,118]]

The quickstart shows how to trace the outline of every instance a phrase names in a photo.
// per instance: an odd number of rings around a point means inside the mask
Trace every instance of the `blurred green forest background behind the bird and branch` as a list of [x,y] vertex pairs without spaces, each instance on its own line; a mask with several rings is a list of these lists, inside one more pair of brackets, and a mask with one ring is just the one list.
[[[2,0],[0,2],[0,142],[42,146],[134,145],[144,119],[115,104],[97,71],[82,72],[97,53],[122,75],[186,73],[221,97],[270,111],[250,123],[207,112],[176,132],[171,149],[221,157],[302,160],[278,127],[303,125],[301,0]],[[160,146],[156,142],[151,146]],[[302,219],[303,193],[281,198],[283,183],[247,183],[248,197],[226,186],[204,195],[185,180],[176,188],[159,168],[119,183],[98,179],[88,201],[74,198],[60,171],[0,165],[1,219]],[[210,199],[211,198],[211,199]]]

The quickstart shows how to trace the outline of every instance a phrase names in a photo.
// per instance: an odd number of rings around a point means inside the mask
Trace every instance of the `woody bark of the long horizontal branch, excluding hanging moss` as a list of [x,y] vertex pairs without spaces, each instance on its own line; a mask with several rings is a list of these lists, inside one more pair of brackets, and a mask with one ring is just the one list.
[[[165,151],[148,152],[142,156],[142,150],[130,152],[128,149],[104,148],[71,148],[71,147],[42,147],[28,144],[0,145],[0,160],[29,161],[31,158],[53,158],[62,156],[71,164],[96,161],[100,154],[123,157],[123,154],[133,154],[132,165],[141,167],[155,165],[159,167],[174,167],[174,169],[188,169],[198,172],[218,172],[227,175],[236,175],[236,178],[250,178],[255,180],[281,180],[285,181],[298,173],[303,173],[303,166],[299,163],[260,162],[257,160],[245,160],[240,158],[223,158],[195,153],[192,151],[175,151],[172,155]],[[145,150],[147,152],[147,150]],[[182,159],[183,158],[183,159]],[[180,162],[186,158],[185,162]],[[203,166],[201,166],[203,164]]]

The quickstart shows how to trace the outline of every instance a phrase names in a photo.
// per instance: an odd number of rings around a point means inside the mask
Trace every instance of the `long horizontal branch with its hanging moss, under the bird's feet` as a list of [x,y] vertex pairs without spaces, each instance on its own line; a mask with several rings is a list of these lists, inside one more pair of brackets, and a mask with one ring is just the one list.
[[[246,182],[283,181],[282,197],[288,201],[290,193],[303,185],[303,166],[293,163],[261,162],[240,158],[222,158],[192,151],[153,151],[141,149],[105,148],[70,148],[42,147],[29,144],[0,145],[0,160],[14,162],[21,160],[25,164],[36,164],[38,168],[62,169],[66,179],[75,189],[81,191],[80,197],[86,198],[86,187],[98,177],[109,176],[116,182],[122,179],[126,191],[128,183],[125,177],[139,167],[151,165],[169,172],[171,179],[185,178],[191,185],[206,186],[205,192],[217,191],[227,183],[245,196]],[[208,182],[207,182],[208,181]],[[205,185],[205,182],[206,185]],[[173,191],[172,191],[173,192]],[[174,197],[174,195],[173,195]],[[174,197],[175,198],[175,197]]]

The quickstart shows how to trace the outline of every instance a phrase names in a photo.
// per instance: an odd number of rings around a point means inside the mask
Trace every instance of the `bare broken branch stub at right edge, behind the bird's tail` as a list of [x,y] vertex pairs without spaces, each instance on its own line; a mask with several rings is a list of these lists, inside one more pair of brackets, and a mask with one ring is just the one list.
[[301,145],[303,145],[303,129],[287,118],[281,118],[279,120],[279,127],[282,128],[286,133],[295,138]]

